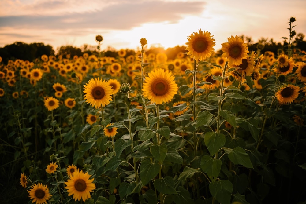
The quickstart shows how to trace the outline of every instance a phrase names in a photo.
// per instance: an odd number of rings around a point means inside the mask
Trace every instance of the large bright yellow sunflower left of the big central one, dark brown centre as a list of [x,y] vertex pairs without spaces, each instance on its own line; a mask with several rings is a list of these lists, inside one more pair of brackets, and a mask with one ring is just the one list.
[[100,108],[106,106],[112,101],[113,89],[108,83],[102,79],[95,78],[90,79],[86,85],[84,85],[84,99],[92,107]]

